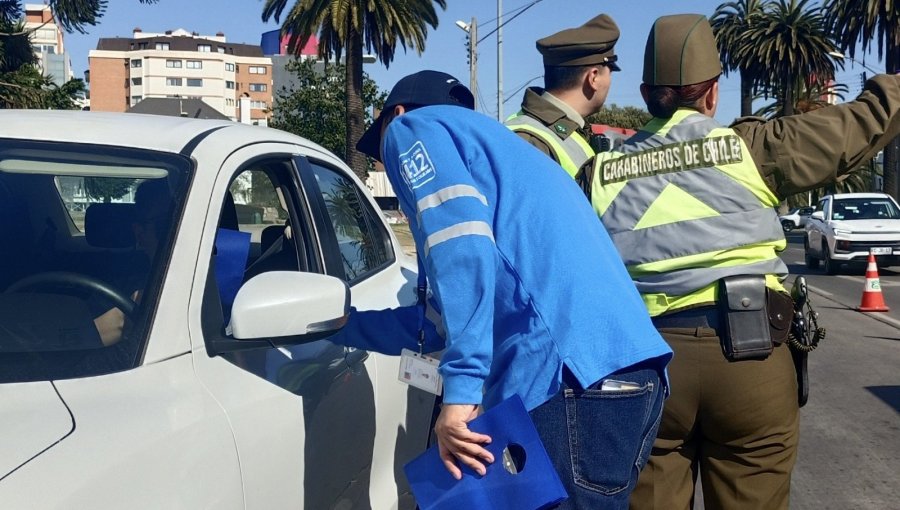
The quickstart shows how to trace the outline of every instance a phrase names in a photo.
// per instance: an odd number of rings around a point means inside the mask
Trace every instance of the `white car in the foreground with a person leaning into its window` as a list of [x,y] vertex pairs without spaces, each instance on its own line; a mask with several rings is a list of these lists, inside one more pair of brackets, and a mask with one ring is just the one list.
[[320,340],[414,303],[415,264],[328,151],[0,111],[0,240],[0,507],[415,506],[434,398]]

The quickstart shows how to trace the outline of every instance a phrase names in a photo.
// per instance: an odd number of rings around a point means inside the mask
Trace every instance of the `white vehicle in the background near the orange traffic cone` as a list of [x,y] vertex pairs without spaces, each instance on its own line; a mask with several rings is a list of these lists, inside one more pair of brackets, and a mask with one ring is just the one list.
[[883,193],[823,197],[806,223],[806,266],[824,264],[834,274],[841,264],[865,263],[869,253],[884,266],[900,263],[900,207]]

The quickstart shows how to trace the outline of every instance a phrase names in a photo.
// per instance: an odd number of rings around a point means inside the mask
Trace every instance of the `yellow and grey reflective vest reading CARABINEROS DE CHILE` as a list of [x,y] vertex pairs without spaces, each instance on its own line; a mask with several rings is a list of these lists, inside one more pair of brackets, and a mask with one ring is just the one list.
[[680,109],[620,151],[597,155],[591,202],[651,316],[715,301],[731,275],[782,290],[778,199],[734,131]]

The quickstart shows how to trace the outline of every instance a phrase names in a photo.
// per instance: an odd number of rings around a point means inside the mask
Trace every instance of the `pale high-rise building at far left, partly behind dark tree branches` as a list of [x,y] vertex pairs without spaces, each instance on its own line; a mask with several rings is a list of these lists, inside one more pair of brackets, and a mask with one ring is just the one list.
[[25,4],[25,30],[30,32],[28,37],[44,76],[57,85],[74,78],[63,32],[53,19],[49,5]]

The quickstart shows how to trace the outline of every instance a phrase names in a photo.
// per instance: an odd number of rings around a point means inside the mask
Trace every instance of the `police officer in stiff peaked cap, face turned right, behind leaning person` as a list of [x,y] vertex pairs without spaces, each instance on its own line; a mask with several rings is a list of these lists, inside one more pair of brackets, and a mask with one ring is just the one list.
[[506,121],[573,177],[599,148],[585,118],[603,107],[612,72],[619,70],[618,39],[619,27],[601,14],[580,27],[538,40],[545,88],[529,87],[522,109]]

